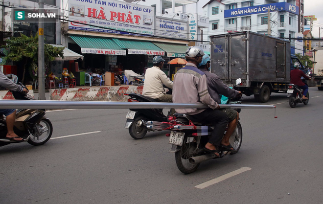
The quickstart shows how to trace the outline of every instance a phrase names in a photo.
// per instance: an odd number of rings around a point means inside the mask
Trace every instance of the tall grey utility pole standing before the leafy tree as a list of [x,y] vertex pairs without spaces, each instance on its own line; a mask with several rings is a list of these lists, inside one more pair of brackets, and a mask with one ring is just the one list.
[[[39,10],[44,12],[44,0],[39,0]],[[38,100],[46,100],[45,96],[45,59],[44,59],[44,18],[38,23]]]

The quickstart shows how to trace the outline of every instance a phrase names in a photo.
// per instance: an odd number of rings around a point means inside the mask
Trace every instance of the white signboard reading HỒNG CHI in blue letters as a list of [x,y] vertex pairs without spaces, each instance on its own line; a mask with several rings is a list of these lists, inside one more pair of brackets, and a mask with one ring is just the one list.
[[155,36],[188,39],[187,21],[156,17]]

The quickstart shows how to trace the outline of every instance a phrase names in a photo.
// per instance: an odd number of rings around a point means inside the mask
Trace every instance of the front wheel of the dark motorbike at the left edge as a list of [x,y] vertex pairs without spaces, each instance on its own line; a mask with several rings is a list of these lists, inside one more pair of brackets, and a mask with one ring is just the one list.
[[[38,133],[38,131],[40,134]],[[45,144],[53,133],[53,125],[48,119],[42,119],[39,124],[36,124],[33,132],[29,136],[28,143],[34,146]]]

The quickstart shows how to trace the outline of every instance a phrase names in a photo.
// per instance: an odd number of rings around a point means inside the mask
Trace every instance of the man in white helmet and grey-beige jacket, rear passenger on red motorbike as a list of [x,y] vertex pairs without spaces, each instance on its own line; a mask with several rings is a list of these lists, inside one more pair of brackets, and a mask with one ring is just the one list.
[[175,109],[177,113],[188,114],[192,121],[211,123],[214,126],[212,134],[205,145],[205,150],[219,157],[219,148],[226,130],[229,118],[227,113],[220,111],[220,106],[208,92],[207,75],[197,68],[202,61],[204,51],[201,47],[190,46],[185,52],[188,62],[174,76],[174,103],[203,103],[207,109]]

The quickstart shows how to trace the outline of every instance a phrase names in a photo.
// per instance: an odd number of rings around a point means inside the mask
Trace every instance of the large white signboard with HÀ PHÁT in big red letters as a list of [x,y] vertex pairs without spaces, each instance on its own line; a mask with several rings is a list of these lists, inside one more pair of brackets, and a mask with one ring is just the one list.
[[116,0],[69,0],[69,29],[153,36],[154,13],[154,7]]

